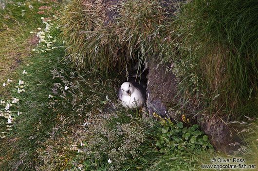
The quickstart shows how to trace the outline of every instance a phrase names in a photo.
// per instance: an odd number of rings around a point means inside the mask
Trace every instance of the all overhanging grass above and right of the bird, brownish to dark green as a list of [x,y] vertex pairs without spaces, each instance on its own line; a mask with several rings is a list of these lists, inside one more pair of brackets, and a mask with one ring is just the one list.
[[171,63],[179,96],[211,117],[257,112],[257,6],[255,1],[194,1],[167,15],[162,1],[127,1],[106,25],[108,6],[72,0],[60,18],[74,65],[108,73],[131,62]]

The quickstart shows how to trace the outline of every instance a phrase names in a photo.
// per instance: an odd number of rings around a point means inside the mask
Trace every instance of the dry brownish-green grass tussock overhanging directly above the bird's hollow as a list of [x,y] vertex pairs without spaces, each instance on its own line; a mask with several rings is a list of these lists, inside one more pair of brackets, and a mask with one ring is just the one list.
[[[133,61],[146,62],[162,41],[166,11],[156,0],[107,6],[102,1],[72,0],[60,19],[67,53],[75,65],[107,73]],[[106,24],[107,8],[117,12]]]

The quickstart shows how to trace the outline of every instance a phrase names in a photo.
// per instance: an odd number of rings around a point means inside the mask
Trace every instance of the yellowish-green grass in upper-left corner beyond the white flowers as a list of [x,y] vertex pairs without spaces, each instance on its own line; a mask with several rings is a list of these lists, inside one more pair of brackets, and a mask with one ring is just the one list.
[[[55,1],[53,1],[55,2]],[[37,38],[30,31],[36,31],[43,26],[40,17],[55,14],[55,3],[44,0],[37,1],[12,0],[0,9],[0,84],[6,83],[20,62],[26,63],[31,54],[31,49],[36,46]],[[41,6],[53,5],[52,10],[40,10]],[[46,11],[49,14],[37,14],[38,11]],[[3,86],[0,86],[0,94],[6,94]]]

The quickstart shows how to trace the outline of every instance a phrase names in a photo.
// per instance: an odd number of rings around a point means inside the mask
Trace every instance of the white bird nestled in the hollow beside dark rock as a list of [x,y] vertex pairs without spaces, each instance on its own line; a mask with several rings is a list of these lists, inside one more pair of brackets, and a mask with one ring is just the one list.
[[135,82],[124,82],[117,94],[122,105],[129,109],[139,109],[145,103],[145,89],[141,84]]

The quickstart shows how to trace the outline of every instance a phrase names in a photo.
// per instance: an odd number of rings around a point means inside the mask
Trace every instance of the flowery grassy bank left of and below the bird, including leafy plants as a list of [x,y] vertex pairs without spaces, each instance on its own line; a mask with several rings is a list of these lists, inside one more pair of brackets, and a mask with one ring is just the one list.
[[[1,170],[198,168],[196,157],[213,149],[198,125],[183,128],[142,119],[137,111],[111,112],[117,110],[118,79],[74,68],[63,42],[55,41],[58,25],[44,24],[50,29],[38,29],[41,42],[29,64],[16,70],[19,81],[4,87],[11,97],[1,101]],[[163,155],[173,160],[164,163]]]

